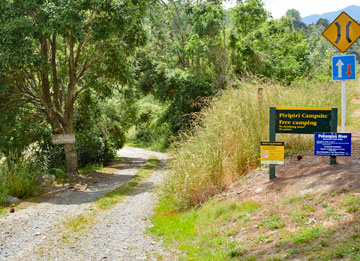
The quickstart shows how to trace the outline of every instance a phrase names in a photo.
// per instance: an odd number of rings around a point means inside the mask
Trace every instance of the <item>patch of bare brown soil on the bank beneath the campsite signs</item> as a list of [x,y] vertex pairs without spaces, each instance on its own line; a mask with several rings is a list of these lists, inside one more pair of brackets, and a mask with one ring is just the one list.
[[337,157],[335,165],[330,165],[329,161],[329,157],[311,154],[302,155],[298,160],[295,155],[276,167],[275,179],[270,181],[269,169],[261,168],[223,196],[270,205],[295,195],[360,189],[360,132],[352,133],[351,157]]

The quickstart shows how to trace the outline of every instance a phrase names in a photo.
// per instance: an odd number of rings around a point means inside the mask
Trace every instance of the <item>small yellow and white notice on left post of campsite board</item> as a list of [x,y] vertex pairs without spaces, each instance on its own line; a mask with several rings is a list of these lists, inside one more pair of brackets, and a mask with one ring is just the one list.
[[284,158],[284,142],[261,142],[261,164],[284,164]]

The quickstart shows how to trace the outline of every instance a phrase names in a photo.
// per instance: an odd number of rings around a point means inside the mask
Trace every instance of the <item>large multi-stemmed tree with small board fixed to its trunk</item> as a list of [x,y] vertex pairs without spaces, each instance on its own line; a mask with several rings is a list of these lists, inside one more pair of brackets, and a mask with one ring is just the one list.
[[[53,134],[73,134],[79,97],[132,79],[130,53],[144,39],[145,0],[4,0],[0,3],[3,107],[30,106]],[[75,144],[64,145],[77,173]]]

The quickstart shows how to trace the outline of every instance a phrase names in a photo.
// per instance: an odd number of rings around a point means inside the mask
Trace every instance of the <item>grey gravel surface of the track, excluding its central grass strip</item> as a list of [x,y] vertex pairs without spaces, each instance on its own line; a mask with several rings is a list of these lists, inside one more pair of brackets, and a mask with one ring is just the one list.
[[[0,260],[173,260],[161,241],[146,234],[151,226],[154,185],[164,175],[166,154],[125,147],[119,151],[125,166],[84,191],[63,191],[45,202],[0,216]],[[64,236],[64,221],[91,213],[91,204],[121,186],[149,156],[160,167],[123,202],[97,212],[93,224],[81,233]]]

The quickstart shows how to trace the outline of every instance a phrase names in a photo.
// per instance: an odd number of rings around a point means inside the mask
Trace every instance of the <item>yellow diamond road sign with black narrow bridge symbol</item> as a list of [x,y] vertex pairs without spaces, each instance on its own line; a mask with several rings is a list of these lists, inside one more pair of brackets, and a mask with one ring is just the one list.
[[360,37],[360,25],[347,13],[342,12],[322,35],[342,53],[345,53]]

